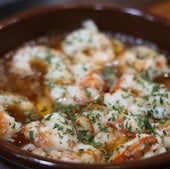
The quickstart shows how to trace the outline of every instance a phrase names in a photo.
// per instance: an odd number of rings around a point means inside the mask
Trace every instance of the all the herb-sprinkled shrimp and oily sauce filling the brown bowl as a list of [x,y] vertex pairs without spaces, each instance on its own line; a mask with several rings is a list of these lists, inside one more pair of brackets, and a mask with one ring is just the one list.
[[169,151],[170,69],[157,48],[87,20],[55,47],[30,42],[6,54],[0,69],[0,136],[22,150],[98,164]]

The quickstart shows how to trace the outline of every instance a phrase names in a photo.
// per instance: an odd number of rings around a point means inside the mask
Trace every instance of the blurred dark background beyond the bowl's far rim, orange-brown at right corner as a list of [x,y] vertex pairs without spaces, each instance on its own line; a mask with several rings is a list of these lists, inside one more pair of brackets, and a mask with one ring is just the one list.
[[170,19],[170,0],[0,0],[0,19],[41,6],[67,3],[105,3],[133,7]]

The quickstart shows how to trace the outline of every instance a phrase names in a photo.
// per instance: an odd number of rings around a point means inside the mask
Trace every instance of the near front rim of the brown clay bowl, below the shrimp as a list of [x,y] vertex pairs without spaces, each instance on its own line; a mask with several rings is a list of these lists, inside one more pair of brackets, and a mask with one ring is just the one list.
[[[8,143],[6,141],[0,140],[0,159],[4,159],[5,161],[11,162],[10,157],[14,158],[16,161],[12,161],[12,163],[16,165],[22,166],[24,162],[30,162],[30,163],[36,163],[40,165],[44,165],[44,167],[69,167],[79,169],[87,169],[87,168],[96,168],[96,169],[122,169],[127,166],[130,166],[132,168],[142,168],[147,167],[149,163],[151,164],[158,164],[159,165],[170,165],[170,153],[162,153],[150,158],[141,159],[141,160],[132,160],[132,161],[126,161],[123,163],[114,163],[114,164],[82,164],[82,163],[76,163],[76,162],[69,162],[69,161],[60,161],[60,160],[54,160],[50,158],[46,158],[43,156],[38,156],[35,154],[31,154],[27,151],[21,150],[19,147],[16,147],[12,145],[11,143]],[[10,151],[9,151],[10,150]],[[158,166],[159,167],[159,166]],[[38,168],[37,168],[38,169]]]

